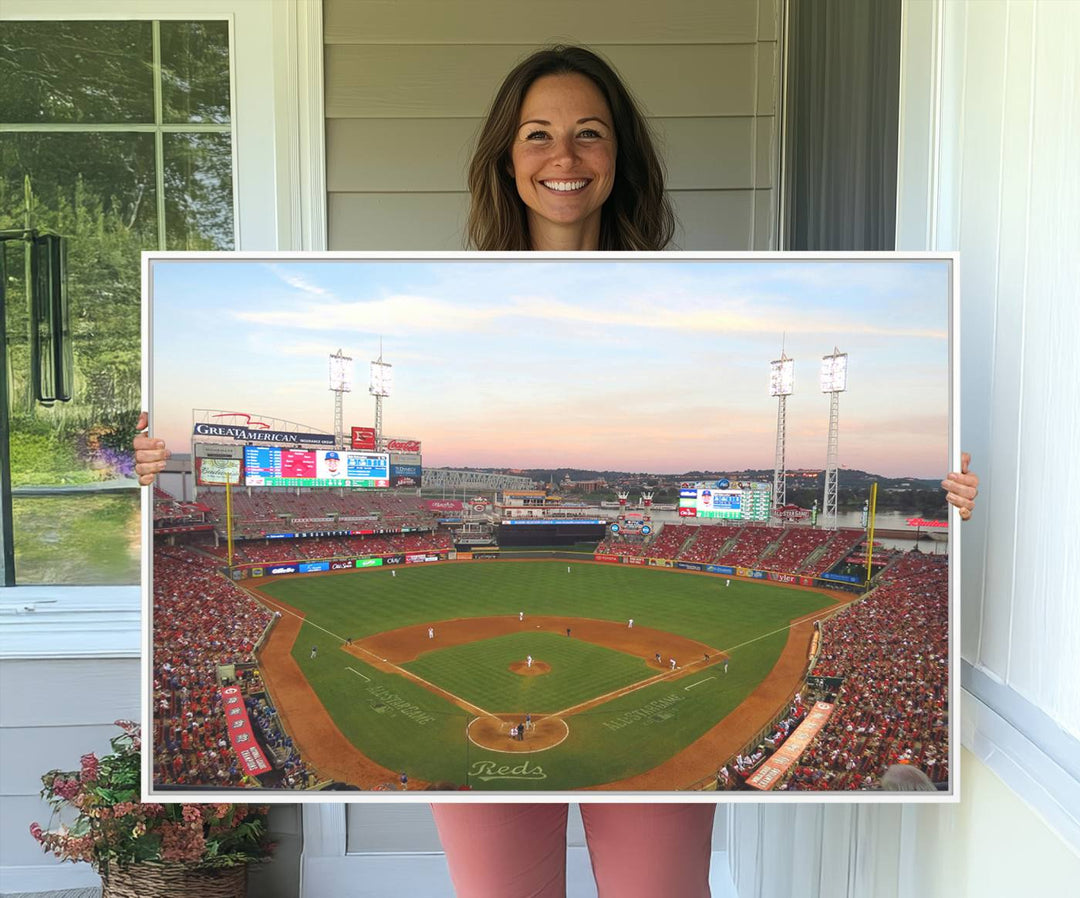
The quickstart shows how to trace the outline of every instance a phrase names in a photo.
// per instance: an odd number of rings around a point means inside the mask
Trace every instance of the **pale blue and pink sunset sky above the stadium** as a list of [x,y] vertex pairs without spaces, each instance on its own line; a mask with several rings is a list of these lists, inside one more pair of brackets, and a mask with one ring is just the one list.
[[849,353],[840,464],[948,467],[941,259],[204,256],[159,258],[151,277],[152,432],[174,452],[190,451],[192,408],[333,431],[339,348],[354,360],[346,431],[373,426],[381,339],[386,433],[421,440],[424,466],[771,468],[783,348],[787,467],[821,468],[835,346]]

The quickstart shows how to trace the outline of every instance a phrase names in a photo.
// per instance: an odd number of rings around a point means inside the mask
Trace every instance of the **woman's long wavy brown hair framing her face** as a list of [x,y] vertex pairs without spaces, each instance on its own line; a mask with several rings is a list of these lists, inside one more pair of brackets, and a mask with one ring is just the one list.
[[553,46],[519,63],[499,88],[469,165],[469,244],[476,250],[529,250],[525,204],[510,174],[517,117],[532,82],[546,75],[583,75],[596,84],[613,119],[615,184],[600,213],[600,250],[662,250],[675,231],[664,173],[645,117],[619,76],[583,46]]

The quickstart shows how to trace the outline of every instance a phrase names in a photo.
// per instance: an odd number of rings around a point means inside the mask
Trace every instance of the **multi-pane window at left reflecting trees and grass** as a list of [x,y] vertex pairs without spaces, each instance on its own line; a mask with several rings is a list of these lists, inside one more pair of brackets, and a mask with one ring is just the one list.
[[25,243],[3,242],[18,584],[137,584],[139,252],[235,245],[229,22],[9,22],[0,231],[67,238],[72,400],[29,379]]

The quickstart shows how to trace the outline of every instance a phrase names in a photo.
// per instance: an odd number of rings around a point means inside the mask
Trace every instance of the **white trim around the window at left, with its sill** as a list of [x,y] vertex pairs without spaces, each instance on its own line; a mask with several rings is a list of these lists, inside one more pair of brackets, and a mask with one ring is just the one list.
[[[321,0],[0,4],[0,21],[147,18],[231,22],[238,249],[324,250]],[[28,606],[36,611],[23,611]],[[137,657],[139,607],[136,586],[0,589],[0,657]]]

